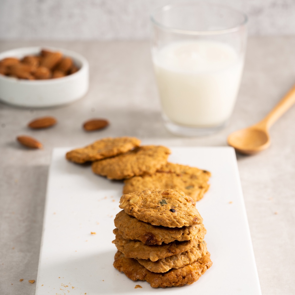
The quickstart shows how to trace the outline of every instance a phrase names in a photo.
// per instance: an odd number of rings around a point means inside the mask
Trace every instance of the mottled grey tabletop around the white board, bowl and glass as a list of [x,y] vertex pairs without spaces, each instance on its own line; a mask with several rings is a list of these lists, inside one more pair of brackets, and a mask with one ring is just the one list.
[[[160,104],[147,41],[0,42],[0,52],[48,45],[84,55],[90,63],[88,94],[68,106],[22,109],[0,103],[0,294],[35,294],[45,192],[54,147],[80,147],[107,136],[171,140],[171,145],[225,146],[230,132],[263,118],[295,82],[295,36],[250,37],[240,92],[230,124],[207,137],[170,134]],[[58,124],[32,131],[30,120],[52,115]],[[107,118],[110,126],[86,133],[82,122]],[[263,295],[295,294],[295,107],[271,128],[271,147],[237,154],[254,254]],[[38,138],[43,150],[16,142]],[[226,241],[224,241],[226,242]],[[241,253],[242,255],[242,253]],[[20,282],[20,279],[24,281]]]

